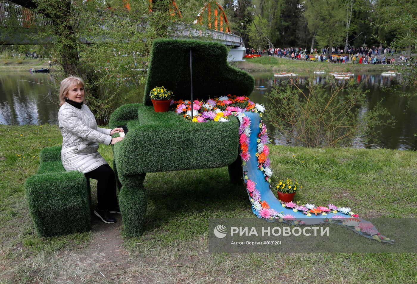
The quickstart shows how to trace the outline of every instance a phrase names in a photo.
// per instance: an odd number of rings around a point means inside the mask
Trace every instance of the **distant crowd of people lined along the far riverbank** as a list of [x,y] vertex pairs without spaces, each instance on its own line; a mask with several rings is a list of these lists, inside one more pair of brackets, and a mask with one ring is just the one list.
[[[343,48],[332,48],[331,58],[328,58],[327,54],[329,48],[322,48],[310,50],[310,53],[307,53],[306,49],[302,48],[269,48],[269,49],[257,49],[246,48],[246,54],[256,54],[256,55],[270,55],[276,56],[279,58],[288,58],[292,60],[306,60],[306,61],[316,61],[316,62],[330,62],[330,63],[352,63],[358,64],[394,64],[395,50],[390,47],[377,47],[372,46],[354,48],[349,47],[347,50]],[[405,55],[400,55],[399,63],[414,63],[416,62],[414,58],[407,58]]]

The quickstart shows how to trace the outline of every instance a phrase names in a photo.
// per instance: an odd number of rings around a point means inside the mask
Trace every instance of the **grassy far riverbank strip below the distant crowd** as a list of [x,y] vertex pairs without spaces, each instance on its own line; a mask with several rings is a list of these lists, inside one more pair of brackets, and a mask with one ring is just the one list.
[[314,71],[327,70],[333,72],[369,72],[369,71],[385,71],[392,69],[391,65],[382,64],[335,64],[327,62],[312,62],[302,60],[290,60],[285,58],[276,58],[272,56],[261,56],[259,58],[248,58],[246,61],[232,63],[234,66],[246,70],[248,72],[257,71]]

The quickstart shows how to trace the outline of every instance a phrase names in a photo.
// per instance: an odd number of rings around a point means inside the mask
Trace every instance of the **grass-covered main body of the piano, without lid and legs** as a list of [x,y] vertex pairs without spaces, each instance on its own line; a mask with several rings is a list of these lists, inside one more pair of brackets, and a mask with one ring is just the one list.
[[139,105],[138,120],[127,126],[126,137],[113,148],[119,175],[223,167],[238,156],[234,116],[224,123],[193,123],[173,111]]

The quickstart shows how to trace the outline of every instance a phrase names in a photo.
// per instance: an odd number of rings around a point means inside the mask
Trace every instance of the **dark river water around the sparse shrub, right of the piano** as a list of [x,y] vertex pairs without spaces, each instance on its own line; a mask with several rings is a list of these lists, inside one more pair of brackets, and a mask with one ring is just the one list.
[[[299,84],[301,90],[307,89],[309,82],[308,74],[297,77],[274,77],[273,73],[252,73],[255,77],[255,90],[252,92],[250,98],[255,103],[268,103],[265,94],[271,90],[273,84],[281,84],[283,82],[293,80],[294,83]],[[344,83],[345,80],[334,79],[330,75],[316,75],[312,77],[313,84],[324,85],[329,89],[333,85]],[[357,133],[352,141],[352,146],[357,148],[390,148],[400,150],[416,150],[417,138],[414,134],[417,132],[417,98],[412,99],[407,109],[408,100],[404,96],[399,96],[394,92],[394,89],[400,90],[404,93],[412,93],[413,90],[404,84],[404,79],[397,75],[395,77],[382,76],[381,73],[361,73],[351,76],[346,81],[354,81],[362,84],[364,90],[369,90],[367,93],[367,105],[361,106],[362,116],[367,110],[372,110],[374,106],[382,101],[382,106],[389,110],[392,118],[397,123],[394,128],[384,128],[381,130],[381,135],[378,137],[379,141],[372,143],[365,143],[360,133]],[[260,88],[260,87],[263,88]],[[390,89],[387,89],[390,88]],[[407,110],[407,112],[405,112]],[[271,125],[269,125],[269,133],[271,141],[280,145],[291,145],[291,141],[287,141],[281,133],[278,133]]]

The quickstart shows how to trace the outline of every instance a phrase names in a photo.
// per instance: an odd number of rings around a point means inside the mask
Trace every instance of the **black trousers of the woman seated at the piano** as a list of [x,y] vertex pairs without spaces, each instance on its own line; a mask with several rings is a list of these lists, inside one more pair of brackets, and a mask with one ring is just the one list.
[[84,173],[87,178],[97,180],[98,208],[113,209],[118,206],[116,196],[116,177],[109,165],[101,165],[93,171]]

